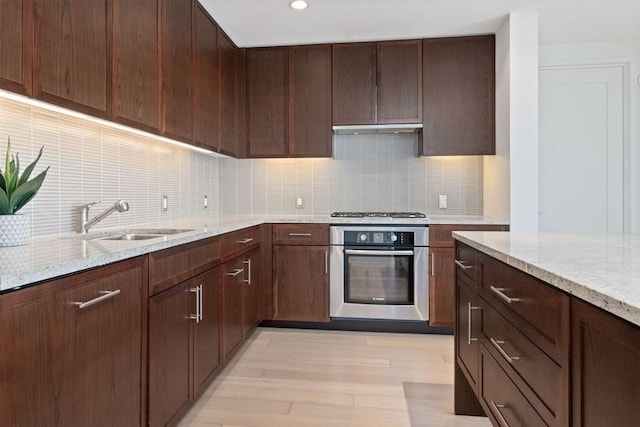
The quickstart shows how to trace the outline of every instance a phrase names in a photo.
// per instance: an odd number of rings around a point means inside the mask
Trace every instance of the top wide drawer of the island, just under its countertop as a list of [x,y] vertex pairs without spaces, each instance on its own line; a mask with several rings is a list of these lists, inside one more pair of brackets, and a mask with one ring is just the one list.
[[569,297],[540,280],[480,255],[480,295],[563,365],[568,354]]

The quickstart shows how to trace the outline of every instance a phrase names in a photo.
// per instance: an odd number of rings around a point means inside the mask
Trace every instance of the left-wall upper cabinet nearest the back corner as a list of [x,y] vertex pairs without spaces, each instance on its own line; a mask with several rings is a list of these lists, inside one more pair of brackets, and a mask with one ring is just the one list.
[[246,56],[218,29],[218,151],[245,156]]

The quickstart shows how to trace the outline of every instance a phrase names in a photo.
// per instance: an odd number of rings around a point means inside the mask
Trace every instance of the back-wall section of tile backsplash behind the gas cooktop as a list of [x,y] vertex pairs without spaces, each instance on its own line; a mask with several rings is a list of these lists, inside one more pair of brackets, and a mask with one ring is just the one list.
[[[338,135],[333,159],[222,159],[222,212],[482,215],[482,157],[417,157],[416,144],[413,134]],[[438,208],[440,194],[447,209]]]

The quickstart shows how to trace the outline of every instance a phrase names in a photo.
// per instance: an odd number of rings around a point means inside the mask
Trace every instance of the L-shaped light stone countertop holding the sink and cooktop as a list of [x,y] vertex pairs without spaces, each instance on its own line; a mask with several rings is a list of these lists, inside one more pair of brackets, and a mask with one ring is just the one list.
[[208,237],[263,223],[328,224],[506,224],[481,216],[431,218],[331,218],[328,215],[213,215],[158,223],[137,224],[92,231],[100,235],[115,230],[189,229],[186,233],[137,241],[82,240],[76,233],[31,239],[25,246],[0,248],[0,293],[66,274],[133,258]]

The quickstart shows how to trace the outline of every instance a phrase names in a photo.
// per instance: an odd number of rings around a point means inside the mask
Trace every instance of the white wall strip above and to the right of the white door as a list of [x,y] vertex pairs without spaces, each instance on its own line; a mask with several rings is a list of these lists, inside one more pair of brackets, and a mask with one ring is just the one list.
[[640,233],[640,40],[540,46],[540,67],[625,68],[625,231]]

